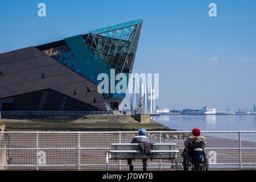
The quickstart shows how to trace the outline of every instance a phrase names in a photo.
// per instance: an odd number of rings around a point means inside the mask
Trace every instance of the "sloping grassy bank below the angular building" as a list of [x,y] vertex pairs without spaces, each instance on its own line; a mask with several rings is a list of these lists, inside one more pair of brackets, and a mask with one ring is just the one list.
[[130,115],[42,116],[3,115],[6,131],[171,131],[167,126],[150,119],[140,123]]

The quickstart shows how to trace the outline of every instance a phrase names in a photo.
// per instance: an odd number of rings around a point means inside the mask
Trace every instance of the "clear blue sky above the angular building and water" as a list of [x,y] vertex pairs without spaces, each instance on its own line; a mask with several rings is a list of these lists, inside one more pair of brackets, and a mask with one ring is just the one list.
[[[47,16],[38,16],[38,3]],[[210,2],[217,17],[208,16]],[[134,72],[159,73],[156,105],[251,109],[256,1],[1,1],[0,53],[143,18]]]

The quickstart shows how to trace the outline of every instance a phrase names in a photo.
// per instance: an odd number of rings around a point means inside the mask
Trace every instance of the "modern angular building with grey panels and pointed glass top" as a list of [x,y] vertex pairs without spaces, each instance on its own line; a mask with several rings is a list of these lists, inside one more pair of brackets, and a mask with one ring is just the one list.
[[137,19],[1,53],[0,110],[121,110],[125,93],[98,93],[97,76],[132,72],[141,27]]

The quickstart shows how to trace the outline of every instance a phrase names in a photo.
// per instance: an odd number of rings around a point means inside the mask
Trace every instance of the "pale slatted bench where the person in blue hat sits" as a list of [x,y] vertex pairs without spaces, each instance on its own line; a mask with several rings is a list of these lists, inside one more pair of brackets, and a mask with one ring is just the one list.
[[152,155],[148,156],[141,151],[138,143],[112,143],[111,150],[106,151],[106,167],[109,171],[109,159],[175,159],[178,170],[176,143],[155,143]]

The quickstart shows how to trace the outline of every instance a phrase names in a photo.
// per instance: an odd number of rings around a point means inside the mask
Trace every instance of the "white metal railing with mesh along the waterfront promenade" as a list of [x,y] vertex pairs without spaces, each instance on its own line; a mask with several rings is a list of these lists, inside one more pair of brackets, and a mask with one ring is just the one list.
[[[209,168],[256,167],[256,131],[202,131]],[[0,132],[0,169],[106,169],[111,143],[130,143],[134,131]],[[189,131],[148,131],[154,143],[176,143],[179,168]],[[141,160],[134,160],[142,168]],[[175,167],[173,160],[148,160],[148,168]],[[128,169],[126,160],[112,160],[110,169]]]

